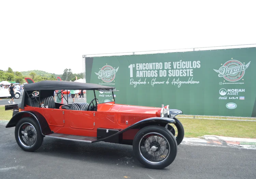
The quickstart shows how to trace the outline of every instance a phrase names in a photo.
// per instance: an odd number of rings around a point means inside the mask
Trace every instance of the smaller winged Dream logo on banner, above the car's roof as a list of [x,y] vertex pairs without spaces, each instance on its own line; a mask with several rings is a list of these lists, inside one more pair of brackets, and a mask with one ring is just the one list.
[[98,73],[95,72],[95,74],[98,75],[98,79],[101,79],[106,83],[110,83],[115,79],[118,68],[119,67],[115,69],[110,65],[105,65],[100,69]]

